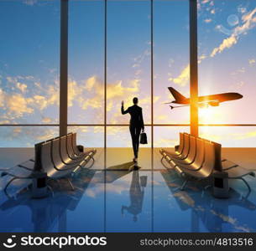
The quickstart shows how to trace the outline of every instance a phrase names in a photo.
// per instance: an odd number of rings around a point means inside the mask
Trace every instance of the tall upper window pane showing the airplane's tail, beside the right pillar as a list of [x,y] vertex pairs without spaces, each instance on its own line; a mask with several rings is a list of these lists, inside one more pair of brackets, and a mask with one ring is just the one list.
[[164,104],[175,100],[167,87],[190,95],[188,13],[187,0],[154,1],[154,124],[189,123],[188,106]]

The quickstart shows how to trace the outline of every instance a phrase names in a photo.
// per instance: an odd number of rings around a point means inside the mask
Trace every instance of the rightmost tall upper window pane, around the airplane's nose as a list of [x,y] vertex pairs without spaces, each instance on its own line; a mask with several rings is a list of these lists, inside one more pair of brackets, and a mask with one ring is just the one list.
[[255,1],[200,1],[199,93],[237,92],[240,100],[200,109],[205,124],[255,124]]

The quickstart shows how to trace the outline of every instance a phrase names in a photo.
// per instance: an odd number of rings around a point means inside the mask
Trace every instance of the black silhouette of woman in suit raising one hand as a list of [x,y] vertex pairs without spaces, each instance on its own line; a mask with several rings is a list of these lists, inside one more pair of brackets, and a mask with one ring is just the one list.
[[121,106],[122,114],[129,113],[131,115],[130,120],[130,133],[133,141],[133,161],[138,161],[138,145],[139,145],[139,135],[140,131],[144,132],[144,118],[142,115],[142,108],[138,106],[138,98],[133,98],[133,106],[128,107],[127,110],[123,109],[123,101]]

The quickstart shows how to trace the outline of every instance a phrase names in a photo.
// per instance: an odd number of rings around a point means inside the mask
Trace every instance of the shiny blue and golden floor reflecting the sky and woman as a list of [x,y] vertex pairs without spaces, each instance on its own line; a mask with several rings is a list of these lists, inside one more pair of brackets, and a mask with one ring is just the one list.
[[[1,168],[33,155],[17,150],[13,159],[11,151],[0,151]],[[94,166],[73,177],[75,191],[65,180],[50,183],[54,194],[44,199],[31,199],[25,190],[9,199],[0,191],[0,231],[256,232],[256,179],[246,178],[249,194],[234,181],[230,198],[216,199],[205,183],[177,189],[183,181],[165,169],[159,149],[142,149],[138,170],[131,156],[130,149],[98,149]]]

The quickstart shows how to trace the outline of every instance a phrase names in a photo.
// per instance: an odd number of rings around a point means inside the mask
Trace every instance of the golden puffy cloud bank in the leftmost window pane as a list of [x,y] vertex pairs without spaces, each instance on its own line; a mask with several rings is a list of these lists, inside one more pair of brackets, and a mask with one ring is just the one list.
[[33,76],[8,76],[5,80],[2,85],[6,90],[0,89],[1,120],[15,123],[25,115],[41,113],[50,105],[59,104],[58,81],[54,81],[54,85],[42,86]]

